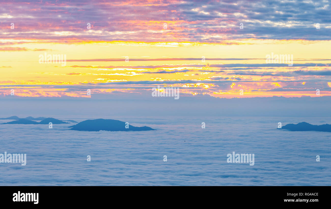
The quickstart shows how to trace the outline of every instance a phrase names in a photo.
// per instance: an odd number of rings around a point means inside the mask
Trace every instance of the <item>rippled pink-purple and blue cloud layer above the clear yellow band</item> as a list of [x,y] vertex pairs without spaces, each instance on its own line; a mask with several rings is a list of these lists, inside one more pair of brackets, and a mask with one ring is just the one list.
[[326,0],[3,1],[0,38],[227,44],[249,38],[329,40],[329,4]]

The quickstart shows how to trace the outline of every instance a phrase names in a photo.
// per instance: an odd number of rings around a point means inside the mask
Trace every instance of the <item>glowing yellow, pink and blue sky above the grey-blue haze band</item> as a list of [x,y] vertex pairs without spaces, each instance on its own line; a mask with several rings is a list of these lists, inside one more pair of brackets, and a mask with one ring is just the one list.
[[327,0],[1,1],[0,100],[132,102],[158,86],[206,103],[328,97],[330,9]]

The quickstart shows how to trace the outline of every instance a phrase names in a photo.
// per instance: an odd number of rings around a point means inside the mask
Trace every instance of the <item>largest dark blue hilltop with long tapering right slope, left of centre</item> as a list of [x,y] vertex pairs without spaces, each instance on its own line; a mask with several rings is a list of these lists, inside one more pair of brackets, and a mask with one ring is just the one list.
[[95,119],[84,120],[76,125],[70,126],[70,130],[75,131],[153,131],[147,126],[135,127],[129,125],[129,128],[125,128],[125,122],[112,119]]

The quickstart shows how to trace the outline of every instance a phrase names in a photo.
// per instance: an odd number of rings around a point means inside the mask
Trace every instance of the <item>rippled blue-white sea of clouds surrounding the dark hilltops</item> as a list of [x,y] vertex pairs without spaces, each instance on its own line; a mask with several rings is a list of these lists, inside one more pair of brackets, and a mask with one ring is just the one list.
[[[105,119],[157,131],[71,131],[72,123],[52,129],[0,125],[0,153],[26,153],[27,158],[25,166],[0,163],[0,186],[331,186],[331,133],[277,129],[278,122],[330,124],[331,118]],[[255,164],[227,163],[233,151],[254,153]]]

